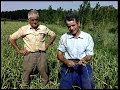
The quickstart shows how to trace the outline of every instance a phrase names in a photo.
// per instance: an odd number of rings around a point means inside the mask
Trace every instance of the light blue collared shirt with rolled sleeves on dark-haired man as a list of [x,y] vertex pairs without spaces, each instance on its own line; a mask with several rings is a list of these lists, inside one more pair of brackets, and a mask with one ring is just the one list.
[[78,38],[69,32],[63,34],[58,50],[64,53],[66,59],[82,59],[86,55],[94,55],[94,42],[90,34],[80,31]]

